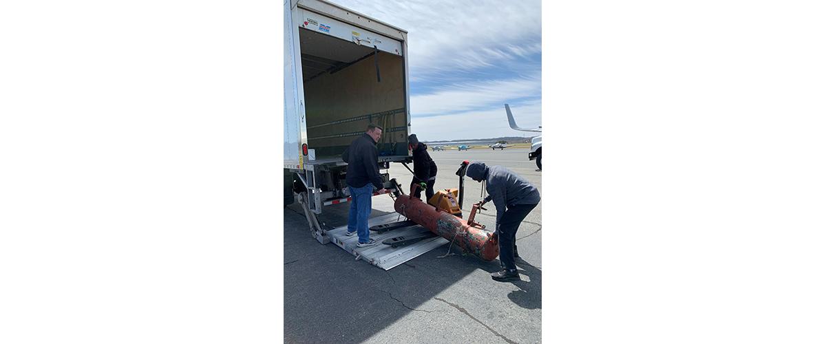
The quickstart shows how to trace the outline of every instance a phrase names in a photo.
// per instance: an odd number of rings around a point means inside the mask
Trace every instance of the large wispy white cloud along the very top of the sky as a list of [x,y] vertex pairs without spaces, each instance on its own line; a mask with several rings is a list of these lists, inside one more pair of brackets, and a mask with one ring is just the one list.
[[539,0],[333,0],[409,32],[411,79],[541,51]]

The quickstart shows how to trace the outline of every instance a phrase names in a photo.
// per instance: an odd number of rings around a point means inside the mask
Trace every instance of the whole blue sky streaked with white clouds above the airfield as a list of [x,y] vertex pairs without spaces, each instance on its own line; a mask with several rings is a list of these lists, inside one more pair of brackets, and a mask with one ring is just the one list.
[[541,125],[539,0],[332,0],[408,32],[411,116],[421,140],[532,136]]

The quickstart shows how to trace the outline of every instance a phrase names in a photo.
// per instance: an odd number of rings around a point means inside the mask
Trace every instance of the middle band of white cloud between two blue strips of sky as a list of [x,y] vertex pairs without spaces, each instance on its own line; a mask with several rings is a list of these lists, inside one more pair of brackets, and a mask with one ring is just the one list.
[[414,116],[445,115],[482,108],[504,108],[503,104],[518,98],[539,97],[541,87],[539,75],[453,84],[438,87],[436,92],[411,96],[411,113]]

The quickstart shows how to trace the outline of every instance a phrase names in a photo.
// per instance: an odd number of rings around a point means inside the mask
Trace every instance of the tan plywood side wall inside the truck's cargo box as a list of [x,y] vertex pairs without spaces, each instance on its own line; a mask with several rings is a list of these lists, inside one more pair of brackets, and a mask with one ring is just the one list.
[[380,152],[407,155],[403,64],[401,56],[379,51],[381,82],[374,56],[304,82],[308,146],[316,157],[338,156],[371,122],[384,128]]

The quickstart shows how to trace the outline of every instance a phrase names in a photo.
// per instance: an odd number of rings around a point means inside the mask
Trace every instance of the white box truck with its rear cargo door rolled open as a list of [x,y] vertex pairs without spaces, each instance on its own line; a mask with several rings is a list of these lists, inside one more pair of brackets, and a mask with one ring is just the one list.
[[285,0],[284,200],[301,203],[320,243],[330,238],[316,214],[349,200],[341,153],[370,123],[383,128],[385,192],[398,192],[387,168],[411,162],[407,32],[331,2]]

